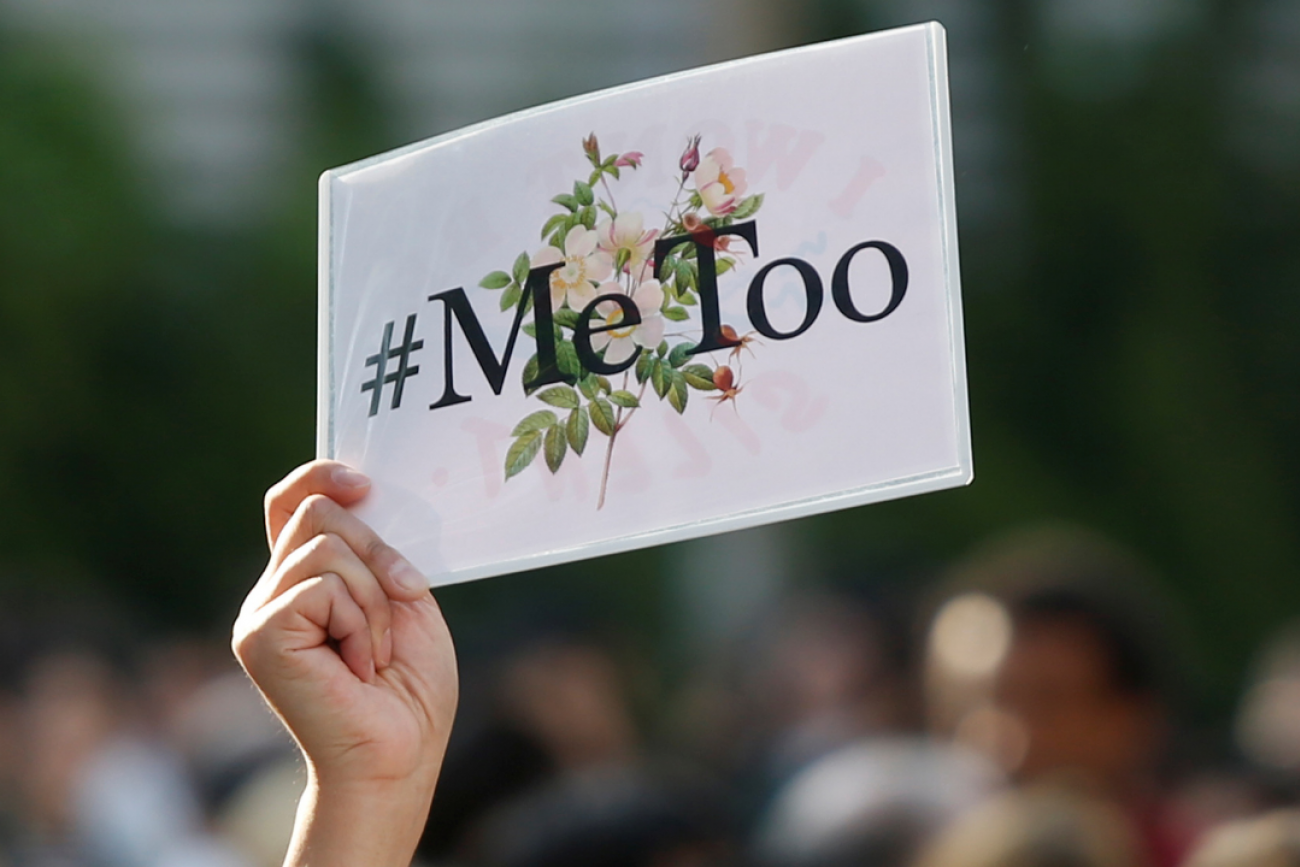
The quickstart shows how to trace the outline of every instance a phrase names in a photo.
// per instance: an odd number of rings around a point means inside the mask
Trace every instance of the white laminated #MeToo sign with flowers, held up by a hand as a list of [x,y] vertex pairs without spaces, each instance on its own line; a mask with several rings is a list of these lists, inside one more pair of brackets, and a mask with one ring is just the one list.
[[433,584],[971,480],[937,23],[321,178],[318,452]]

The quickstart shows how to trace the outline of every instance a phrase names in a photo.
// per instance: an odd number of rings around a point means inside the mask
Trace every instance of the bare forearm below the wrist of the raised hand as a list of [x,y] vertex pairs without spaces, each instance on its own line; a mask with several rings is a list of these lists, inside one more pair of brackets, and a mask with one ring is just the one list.
[[434,781],[334,785],[309,772],[285,867],[408,867]]

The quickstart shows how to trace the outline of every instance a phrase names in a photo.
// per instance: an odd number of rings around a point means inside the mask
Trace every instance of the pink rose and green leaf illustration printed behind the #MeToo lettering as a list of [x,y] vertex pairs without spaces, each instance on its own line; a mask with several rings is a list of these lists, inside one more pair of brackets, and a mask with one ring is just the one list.
[[[680,174],[673,177],[672,201],[662,214],[646,214],[619,211],[614,195],[624,172],[641,169],[644,155],[629,151],[603,156],[593,133],[582,140],[592,170],[575,181],[572,191],[551,199],[558,212],[542,226],[543,246],[532,253],[521,252],[511,270],[493,272],[480,282],[484,289],[502,292],[502,311],[519,312],[523,305],[528,312],[533,300],[526,289],[529,270],[555,266],[549,285],[555,359],[563,382],[551,380],[551,385],[530,387],[538,378],[538,355],[524,365],[525,393],[540,406],[511,433],[507,480],[538,455],[551,473],[558,472],[569,452],[576,458],[586,452],[594,428],[604,437],[597,500],[597,508],[603,508],[619,433],[651,395],[685,413],[693,390],[711,393],[714,411],[725,402],[734,406],[744,390],[741,363],[742,355],[753,352],[750,335],[722,325],[723,348],[693,352],[702,339],[702,329],[692,324],[692,308],[699,305],[697,244],[682,243],[668,251],[659,272],[653,273],[655,242],[684,235],[711,246],[716,273],[727,273],[736,266],[738,253],[728,243],[731,237],[712,233],[749,220],[763,204],[762,194],[749,194],[745,170],[732,155],[720,147],[701,153],[701,139],[693,135],[686,140],[677,161]],[[647,227],[649,222],[660,225]],[[537,291],[543,290],[540,286]],[[593,302],[594,309],[589,311]],[[573,341],[584,312],[589,317],[590,348],[599,361],[629,365],[614,381],[586,369],[580,359]],[[524,330],[537,338],[537,325],[524,325]],[[589,364],[601,367],[594,360]]]

